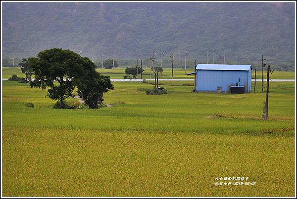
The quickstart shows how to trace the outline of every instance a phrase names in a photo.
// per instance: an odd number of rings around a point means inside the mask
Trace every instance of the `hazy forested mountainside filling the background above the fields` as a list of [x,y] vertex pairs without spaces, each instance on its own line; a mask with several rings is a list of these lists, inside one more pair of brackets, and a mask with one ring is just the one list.
[[3,55],[61,47],[84,56],[294,63],[294,3],[8,3]]

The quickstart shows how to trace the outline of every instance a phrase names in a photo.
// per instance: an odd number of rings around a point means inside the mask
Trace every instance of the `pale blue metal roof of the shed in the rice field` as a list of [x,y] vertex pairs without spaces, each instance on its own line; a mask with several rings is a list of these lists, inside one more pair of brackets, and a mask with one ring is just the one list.
[[196,70],[249,71],[250,67],[237,64],[197,64]]

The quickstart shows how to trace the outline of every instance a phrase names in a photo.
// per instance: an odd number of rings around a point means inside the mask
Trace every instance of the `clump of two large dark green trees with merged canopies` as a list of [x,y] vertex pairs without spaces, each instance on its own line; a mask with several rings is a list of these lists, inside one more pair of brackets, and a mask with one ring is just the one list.
[[[58,108],[66,107],[65,99],[74,96],[76,85],[84,100],[103,100],[103,93],[113,89],[113,86],[110,79],[109,82],[107,80],[109,77],[100,76],[95,67],[89,58],[81,57],[71,50],[47,49],[38,53],[36,62],[31,66],[35,80],[30,82],[30,86],[42,89],[49,87],[48,97],[59,101]],[[93,97],[89,96],[90,93]]]

